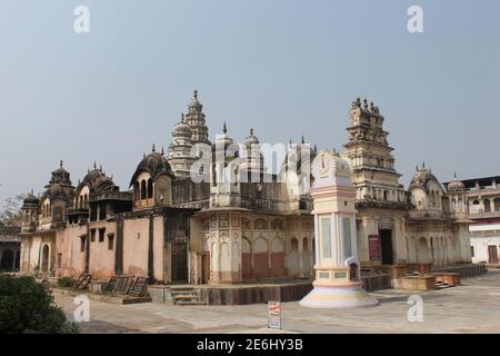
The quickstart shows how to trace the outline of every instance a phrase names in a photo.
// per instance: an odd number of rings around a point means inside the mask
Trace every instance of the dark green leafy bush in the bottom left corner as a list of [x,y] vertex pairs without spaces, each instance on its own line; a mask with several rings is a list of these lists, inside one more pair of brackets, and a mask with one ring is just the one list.
[[33,277],[0,275],[0,333],[78,333],[52,295]]

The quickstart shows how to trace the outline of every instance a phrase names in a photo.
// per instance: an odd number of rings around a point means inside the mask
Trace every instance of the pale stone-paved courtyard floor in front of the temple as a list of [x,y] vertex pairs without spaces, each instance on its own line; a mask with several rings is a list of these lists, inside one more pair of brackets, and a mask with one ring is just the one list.
[[[408,320],[408,297],[423,299],[423,320]],[[321,310],[283,303],[288,333],[500,333],[500,269],[462,280],[462,286],[428,293],[384,290],[369,309]],[[56,301],[72,318],[72,297]],[[267,333],[267,305],[168,306],[90,301],[90,322],[82,333]],[[270,332],[270,330],[269,330]]]

